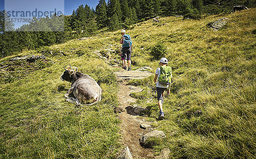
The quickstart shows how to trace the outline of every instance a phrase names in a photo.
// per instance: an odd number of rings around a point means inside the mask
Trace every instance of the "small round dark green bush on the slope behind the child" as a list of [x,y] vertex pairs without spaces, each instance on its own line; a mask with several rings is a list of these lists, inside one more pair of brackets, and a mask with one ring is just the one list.
[[166,54],[166,46],[163,45],[160,41],[157,42],[155,46],[151,48],[150,55],[153,56],[154,60],[160,60]]

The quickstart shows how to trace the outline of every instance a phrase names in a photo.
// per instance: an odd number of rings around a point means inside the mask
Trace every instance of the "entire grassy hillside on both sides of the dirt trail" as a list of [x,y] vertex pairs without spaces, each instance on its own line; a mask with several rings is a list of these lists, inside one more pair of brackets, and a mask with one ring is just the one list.
[[[143,107],[151,107],[146,120],[167,136],[153,147],[156,155],[168,147],[170,158],[256,158],[256,9],[225,15],[230,21],[219,31],[207,28],[207,23],[221,17],[200,21],[164,17],[160,18],[163,26],[148,20],[127,30],[133,38],[133,69],[151,66],[155,71],[159,61],[150,52],[157,42],[166,46],[166,58],[173,68],[172,93],[163,103],[163,121],[157,119],[153,77],[130,81],[151,90],[134,97]],[[117,49],[119,38],[119,31],[108,32],[51,46],[48,51],[22,53],[44,52],[51,62],[41,68],[42,64],[31,66],[35,69],[27,68],[32,64],[20,64],[12,71],[33,72],[23,72],[19,78],[8,76],[11,80],[1,82],[0,158],[116,156],[120,136],[119,120],[113,114],[118,105],[114,69],[91,51]],[[0,63],[7,64],[9,58]],[[99,105],[75,107],[64,101],[70,84],[60,76],[68,64],[100,84],[104,92]],[[150,99],[151,103],[145,102]]]

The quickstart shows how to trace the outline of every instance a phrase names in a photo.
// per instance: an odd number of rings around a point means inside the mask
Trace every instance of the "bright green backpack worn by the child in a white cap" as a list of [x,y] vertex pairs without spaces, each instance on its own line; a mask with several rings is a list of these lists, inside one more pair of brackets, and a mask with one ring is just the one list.
[[172,67],[160,66],[160,76],[158,81],[160,84],[171,84]]

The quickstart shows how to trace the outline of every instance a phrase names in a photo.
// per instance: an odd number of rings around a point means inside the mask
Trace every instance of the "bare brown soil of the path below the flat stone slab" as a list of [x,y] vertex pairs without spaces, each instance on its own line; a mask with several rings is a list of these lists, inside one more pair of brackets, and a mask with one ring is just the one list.
[[121,120],[121,134],[122,142],[130,148],[131,154],[134,159],[154,159],[154,154],[150,148],[143,148],[140,146],[140,136],[147,133],[146,130],[140,128],[140,124],[148,124],[148,122],[143,119],[137,119],[136,114],[128,114],[125,109],[130,105],[130,103],[135,102],[136,99],[130,96],[131,87],[126,85],[127,81],[121,80],[119,83],[118,100],[123,110],[119,113]]

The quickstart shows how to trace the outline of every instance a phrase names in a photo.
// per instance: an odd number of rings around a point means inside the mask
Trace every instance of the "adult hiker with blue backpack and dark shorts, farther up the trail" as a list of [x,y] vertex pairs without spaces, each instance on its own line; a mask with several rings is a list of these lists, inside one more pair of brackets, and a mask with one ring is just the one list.
[[122,44],[122,58],[124,58],[124,69],[127,69],[128,61],[128,71],[131,71],[131,50],[132,50],[132,40],[131,36],[127,35],[125,30],[121,30],[120,43]]

